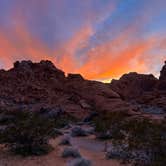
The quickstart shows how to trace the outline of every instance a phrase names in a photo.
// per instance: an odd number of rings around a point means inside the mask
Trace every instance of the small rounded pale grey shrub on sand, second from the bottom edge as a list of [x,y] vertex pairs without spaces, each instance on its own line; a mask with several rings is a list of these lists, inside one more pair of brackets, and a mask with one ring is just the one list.
[[73,157],[73,158],[78,158],[81,157],[79,151],[73,147],[66,147],[64,148],[62,152],[62,157],[67,158],[67,157]]

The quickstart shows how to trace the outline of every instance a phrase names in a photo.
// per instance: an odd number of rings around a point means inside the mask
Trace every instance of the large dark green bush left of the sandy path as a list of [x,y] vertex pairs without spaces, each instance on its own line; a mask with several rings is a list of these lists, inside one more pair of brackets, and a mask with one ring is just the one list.
[[21,155],[42,155],[52,149],[48,144],[54,137],[52,120],[30,111],[9,111],[6,115],[13,119],[0,133],[1,144]]

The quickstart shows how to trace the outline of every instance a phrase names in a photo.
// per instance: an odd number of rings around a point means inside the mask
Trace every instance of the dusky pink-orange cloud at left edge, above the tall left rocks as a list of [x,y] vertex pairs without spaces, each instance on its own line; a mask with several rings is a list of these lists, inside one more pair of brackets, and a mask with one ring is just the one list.
[[13,33],[0,32],[0,62],[5,68],[10,68],[14,61],[23,59],[49,59],[56,62],[50,55],[51,51],[34,39],[23,26],[17,26]]

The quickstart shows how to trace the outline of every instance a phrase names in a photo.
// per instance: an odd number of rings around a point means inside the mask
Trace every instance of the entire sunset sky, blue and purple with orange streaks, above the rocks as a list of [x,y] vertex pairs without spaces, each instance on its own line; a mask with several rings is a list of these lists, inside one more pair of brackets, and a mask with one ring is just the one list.
[[0,68],[51,60],[66,73],[109,81],[159,75],[165,0],[0,0]]

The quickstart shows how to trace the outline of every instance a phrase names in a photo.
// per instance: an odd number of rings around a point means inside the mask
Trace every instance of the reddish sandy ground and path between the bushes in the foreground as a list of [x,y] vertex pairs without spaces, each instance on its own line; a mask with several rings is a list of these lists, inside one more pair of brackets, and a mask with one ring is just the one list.
[[[38,157],[24,158],[13,155],[1,146],[0,166],[67,166],[67,163],[73,159],[61,157],[64,146],[58,145],[60,140],[61,137],[51,140],[50,144],[54,147],[54,150],[48,155]],[[92,166],[121,166],[120,161],[107,160],[105,158],[104,143],[96,140],[93,135],[88,137],[71,137],[71,143],[73,147],[79,150],[82,157],[92,162]]]

